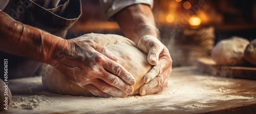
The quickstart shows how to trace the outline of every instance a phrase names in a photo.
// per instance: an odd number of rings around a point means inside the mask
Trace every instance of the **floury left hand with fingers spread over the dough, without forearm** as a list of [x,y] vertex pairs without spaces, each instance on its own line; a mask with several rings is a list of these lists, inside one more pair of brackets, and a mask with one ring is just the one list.
[[133,93],[135,78],[115,62],[117,58],[108,49],[90,39],[66,42],[66,56],[54,67],[68,79],[96,96],[125,97]]

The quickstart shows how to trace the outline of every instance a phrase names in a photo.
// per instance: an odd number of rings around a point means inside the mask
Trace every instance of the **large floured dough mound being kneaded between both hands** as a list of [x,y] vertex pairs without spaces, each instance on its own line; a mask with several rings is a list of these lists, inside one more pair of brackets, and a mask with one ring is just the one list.
[[[139,94],[139,89],[144,84],[143,77],[152,69],[152,65],[147,62],[147,55],[140,51],[133,41],[112,34],[103,35],[92,33],[82,35],[78,38],[92,39],[115,54],[119,58],[117,63],[121,64],[127,71],[132,73],[136,79],[136,84],[133,86],[134,92],[131,95]],[[45,71],[46,72],[42,74],[42,84],[51,92],[63,95],[93,96],[86,89],[71,82],[54,67],[49,65],[46,67]]]

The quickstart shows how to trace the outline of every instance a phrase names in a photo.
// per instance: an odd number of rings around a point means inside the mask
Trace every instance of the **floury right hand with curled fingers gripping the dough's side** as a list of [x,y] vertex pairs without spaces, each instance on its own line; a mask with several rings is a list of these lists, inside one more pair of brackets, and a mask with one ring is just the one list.
[[138,48],[147,54],[147,61],[155,65],[144,76],[144,85],[140,88],[140,95],[150,95],[161,92],[168,84],[172,73],[172,58],[168,49],[155,37],[145,35],[138,42]]

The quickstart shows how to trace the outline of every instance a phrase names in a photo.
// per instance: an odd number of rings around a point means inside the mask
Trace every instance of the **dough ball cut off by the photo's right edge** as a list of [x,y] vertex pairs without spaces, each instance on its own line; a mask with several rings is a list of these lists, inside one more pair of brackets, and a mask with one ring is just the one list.
[[256,39],[252,40],[251,43],[246,47],[244,59],[252,65],[256,65]]

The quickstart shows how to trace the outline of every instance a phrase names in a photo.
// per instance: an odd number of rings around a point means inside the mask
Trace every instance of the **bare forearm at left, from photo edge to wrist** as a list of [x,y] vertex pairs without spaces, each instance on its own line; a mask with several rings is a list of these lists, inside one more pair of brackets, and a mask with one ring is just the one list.
[[65,40],[25,25],[0,11],[0,50],[50,64]]

